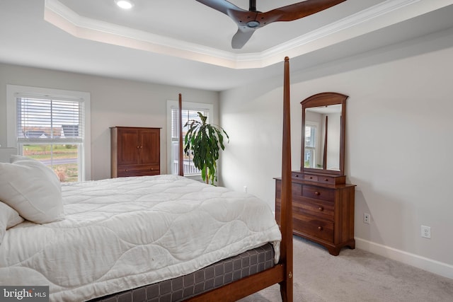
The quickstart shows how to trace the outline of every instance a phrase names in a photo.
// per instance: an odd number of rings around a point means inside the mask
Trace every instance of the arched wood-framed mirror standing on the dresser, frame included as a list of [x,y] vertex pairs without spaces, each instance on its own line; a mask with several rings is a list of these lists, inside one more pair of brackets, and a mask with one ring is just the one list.
[[302,172],[344,175],[347,98],[319,93],[302,100]]

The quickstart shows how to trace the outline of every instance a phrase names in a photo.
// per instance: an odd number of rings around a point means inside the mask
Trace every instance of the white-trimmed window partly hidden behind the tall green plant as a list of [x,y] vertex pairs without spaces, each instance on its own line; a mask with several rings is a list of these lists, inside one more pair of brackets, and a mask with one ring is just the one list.
[[[183,102],[183,126],[188,120],[200,120],[197,112],[201,112],[202,115],[207,116],[207,121],[210,120],[212,115],[212,108],[211,104],[203,104],[203,103],[188,103]],[[168,171],[171,171],[171,174],[178,174],[178,102],[173,100],[168,100],[167,102],[167,112],[168,112],[168,141],[169,146],[167,150],[169,161]],[[187,132],[188,127],[183,127],[183,143],[185,133]],[[193,165],[192,158],[190,156],[184,156],[184,175],[200,175],[201,172]]]

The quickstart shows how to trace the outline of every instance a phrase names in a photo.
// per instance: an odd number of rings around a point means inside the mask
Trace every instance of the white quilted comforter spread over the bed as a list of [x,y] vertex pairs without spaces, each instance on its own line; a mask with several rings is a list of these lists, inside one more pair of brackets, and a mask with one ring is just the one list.
[[176,175],[63,184],[63,221],[24,222],[0,245],[0,284],[83,301],[170,279],[272,242],[270,207]]

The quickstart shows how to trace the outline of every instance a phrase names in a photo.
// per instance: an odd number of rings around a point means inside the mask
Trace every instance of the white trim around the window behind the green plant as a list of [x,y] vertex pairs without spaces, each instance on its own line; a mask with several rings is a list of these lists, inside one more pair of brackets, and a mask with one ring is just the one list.
[[[178,108],[179,102],[177,100],[167,100],[167,173],[172,174],[172,158],[171,158],[171,110]],[[215,124],[214,120],[214,105],[210,103],[194,103],[194,102],[183,102],[183,110],[198,110],[208,111],[210,123]],[[184,139],[184,138],[183,138]]]

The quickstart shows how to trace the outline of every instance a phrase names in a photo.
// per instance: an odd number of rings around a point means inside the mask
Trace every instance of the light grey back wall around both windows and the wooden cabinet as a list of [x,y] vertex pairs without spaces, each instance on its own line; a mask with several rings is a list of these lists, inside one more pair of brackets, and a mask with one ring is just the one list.
[[91,93],[91,178],[110,178],[112,126],[161,127],[161,173],[167,171],[166,101],[210,103],[218,120],[219,93],[138,81],[87,76],[0,64],[0,145],[6,147],[6,85],[85,91]]

